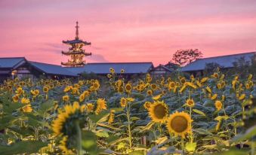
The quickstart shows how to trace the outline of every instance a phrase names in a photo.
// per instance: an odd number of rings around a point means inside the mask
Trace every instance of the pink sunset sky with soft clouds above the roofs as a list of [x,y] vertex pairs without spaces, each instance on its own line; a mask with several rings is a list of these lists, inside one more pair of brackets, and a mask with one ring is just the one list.
[[165,64],[179,49],[205,57],[256,51],[255,0],[1,0],[0,57],[60,65],[63,40],[91,41],[87,62]]

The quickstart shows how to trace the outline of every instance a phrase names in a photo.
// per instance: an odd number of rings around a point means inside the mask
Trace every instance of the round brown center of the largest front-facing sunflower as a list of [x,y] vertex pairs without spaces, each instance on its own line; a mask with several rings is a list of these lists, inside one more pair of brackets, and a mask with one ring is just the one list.
[[185,117],[177,116],[171,120],[171,128],[175,132],[184,132],[188,127],[188,123]]

